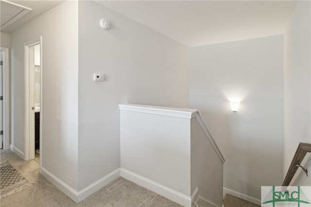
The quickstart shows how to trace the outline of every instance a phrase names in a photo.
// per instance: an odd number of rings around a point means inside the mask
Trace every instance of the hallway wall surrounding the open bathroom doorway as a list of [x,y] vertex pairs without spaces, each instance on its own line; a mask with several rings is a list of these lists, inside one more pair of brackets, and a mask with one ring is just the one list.
[[24,149],[24,43],[42,35],[42,167],[78,186],[78,2],[11,33],[12,144]]

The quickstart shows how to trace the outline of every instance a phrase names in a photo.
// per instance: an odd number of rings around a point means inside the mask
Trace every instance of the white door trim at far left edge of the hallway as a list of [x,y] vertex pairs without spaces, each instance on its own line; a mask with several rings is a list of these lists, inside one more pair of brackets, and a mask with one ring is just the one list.
[[10,70],[9,48],[0,48],[3,54],[3,149],[10,149]]

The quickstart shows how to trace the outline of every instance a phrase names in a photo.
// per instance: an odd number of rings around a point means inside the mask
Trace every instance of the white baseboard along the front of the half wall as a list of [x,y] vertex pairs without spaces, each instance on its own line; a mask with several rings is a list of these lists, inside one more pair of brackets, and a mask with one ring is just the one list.
[[132,173],[124,168],[121,168],[121,176],[125,179],[128,179],[150,191],[154,191],[157,194],[160,194],[182,206],[190,207],[191,206],[191,197],[184,195],[178,191],[167,188],[159,183],[156,183],[152,180],[149,180],[145,177]]

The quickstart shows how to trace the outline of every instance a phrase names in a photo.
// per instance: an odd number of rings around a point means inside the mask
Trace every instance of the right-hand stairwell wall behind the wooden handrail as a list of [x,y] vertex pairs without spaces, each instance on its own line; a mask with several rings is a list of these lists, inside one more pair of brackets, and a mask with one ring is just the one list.
[[[284,34],[284,177],[298,143],[311,143],[310,7],[310,1],[296,2]],[[310,169],[311,159],[303,166]],[[310,173],[301,169],[295,179],[292,185],[311,186]]]

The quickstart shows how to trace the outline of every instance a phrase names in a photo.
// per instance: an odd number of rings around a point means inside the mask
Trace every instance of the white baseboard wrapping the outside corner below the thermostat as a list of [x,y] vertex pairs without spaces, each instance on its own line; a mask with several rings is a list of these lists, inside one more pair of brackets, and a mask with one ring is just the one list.
[[120,176],[120,168],[113,171],[112,173],[104,176],[93,184],[89,185],[85,189],[81,191],[76,191],[61,179],[50,173],[44,167],[41,167],[41,174],[46,177],[54,186],[56,186],[59,190],[63,191],[69,198],[71,198],[74,202],[79,203],[86,199],[88,196],[103,188],[105,185],[115,180]]

